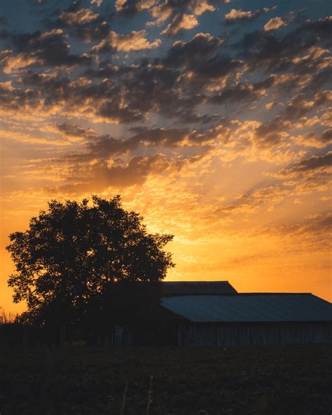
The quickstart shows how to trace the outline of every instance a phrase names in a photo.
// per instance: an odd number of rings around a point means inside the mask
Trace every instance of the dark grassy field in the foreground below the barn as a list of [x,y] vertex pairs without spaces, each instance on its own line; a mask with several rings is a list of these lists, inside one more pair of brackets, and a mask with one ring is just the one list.
[[331,351],[330,346],[4,349],[0,414],[330,415]]

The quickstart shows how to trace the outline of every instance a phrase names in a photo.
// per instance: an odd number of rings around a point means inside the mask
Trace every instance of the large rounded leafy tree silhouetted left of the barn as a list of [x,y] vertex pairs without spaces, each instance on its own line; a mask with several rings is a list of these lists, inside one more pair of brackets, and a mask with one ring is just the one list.
[[123,209],[120,196],[52,200],[27,231],[9,238],[16,272],[8,285],[15,302],[27,301],[23,318],[39,324],[146,318],[174,266],[163,249],[172,236],[148,233],[141,216]]

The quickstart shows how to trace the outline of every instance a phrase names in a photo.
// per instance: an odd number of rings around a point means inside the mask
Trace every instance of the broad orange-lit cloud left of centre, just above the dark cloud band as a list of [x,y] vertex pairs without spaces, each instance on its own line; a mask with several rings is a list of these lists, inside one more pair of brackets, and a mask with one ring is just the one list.
[[132,31],[125,34],[117,34],[111,31],[99,45],[93,46],[92,51],[107,52],[109,50],[123,50],[124,52],[130,52],[130,50],[153,49],[160,46],[160,39],[149,42],[145,36],[145,30],[140,30],[139,32]]

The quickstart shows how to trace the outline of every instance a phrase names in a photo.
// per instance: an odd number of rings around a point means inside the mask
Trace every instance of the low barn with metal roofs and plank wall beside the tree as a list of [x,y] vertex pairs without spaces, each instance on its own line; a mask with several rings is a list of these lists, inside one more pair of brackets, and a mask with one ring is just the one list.
[[227,281],[163,284],[163,344],[332,343],[332,304],[313,294],[238,293]]

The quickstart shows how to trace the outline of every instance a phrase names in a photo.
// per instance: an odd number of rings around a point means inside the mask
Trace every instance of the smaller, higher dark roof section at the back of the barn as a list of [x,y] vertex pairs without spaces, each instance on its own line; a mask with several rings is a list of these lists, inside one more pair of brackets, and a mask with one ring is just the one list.
[[235,294],[228,281],[165,281],[166,295],[173,294]]

